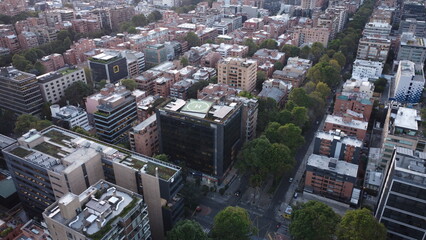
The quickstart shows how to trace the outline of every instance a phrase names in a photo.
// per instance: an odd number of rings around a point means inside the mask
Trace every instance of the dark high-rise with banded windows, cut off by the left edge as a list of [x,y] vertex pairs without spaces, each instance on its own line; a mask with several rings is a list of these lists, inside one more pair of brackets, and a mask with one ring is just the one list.
[[13,67],[0,69],[0,107],[18,114],[37,114],[43,97],[34,74]]

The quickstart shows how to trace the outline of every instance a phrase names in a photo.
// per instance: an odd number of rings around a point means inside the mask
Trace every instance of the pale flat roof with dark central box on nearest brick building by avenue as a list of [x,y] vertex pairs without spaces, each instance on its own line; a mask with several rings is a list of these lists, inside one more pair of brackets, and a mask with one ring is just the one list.
[[[335,165],[333,165],[333,163],[335,163]],[[356,178],[358,172],[358,165],[356,164],[317,154],[311,154],[311,156],[309,156],[307,165],[354,178]]]

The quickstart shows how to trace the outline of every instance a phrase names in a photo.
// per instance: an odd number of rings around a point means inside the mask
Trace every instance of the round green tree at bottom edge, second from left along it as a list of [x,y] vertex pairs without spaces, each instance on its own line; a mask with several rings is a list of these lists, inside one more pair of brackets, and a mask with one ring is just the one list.
[[220,240],[248,240],[257,229],[247,211],[240,207],[227,207],[214,217],[212,236]]

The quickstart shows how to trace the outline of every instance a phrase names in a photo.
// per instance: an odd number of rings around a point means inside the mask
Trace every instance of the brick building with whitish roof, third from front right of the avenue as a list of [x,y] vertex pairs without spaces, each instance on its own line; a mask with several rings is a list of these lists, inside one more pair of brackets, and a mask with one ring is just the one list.
[[358,140],[364,141],[367,134],[368,122],[355,120],[350,116],[340,117],[334,115],[327,115],[324,124],[325,132],[330,130],[341,130],[348,136],[354,136]]

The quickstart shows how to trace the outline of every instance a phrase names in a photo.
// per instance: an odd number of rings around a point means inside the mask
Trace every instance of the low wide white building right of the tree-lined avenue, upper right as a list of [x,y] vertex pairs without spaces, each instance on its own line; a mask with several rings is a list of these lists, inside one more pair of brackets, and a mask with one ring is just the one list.
[[357,59],[352,69],[352,77],[377,79],[382,75],[383,63]]

